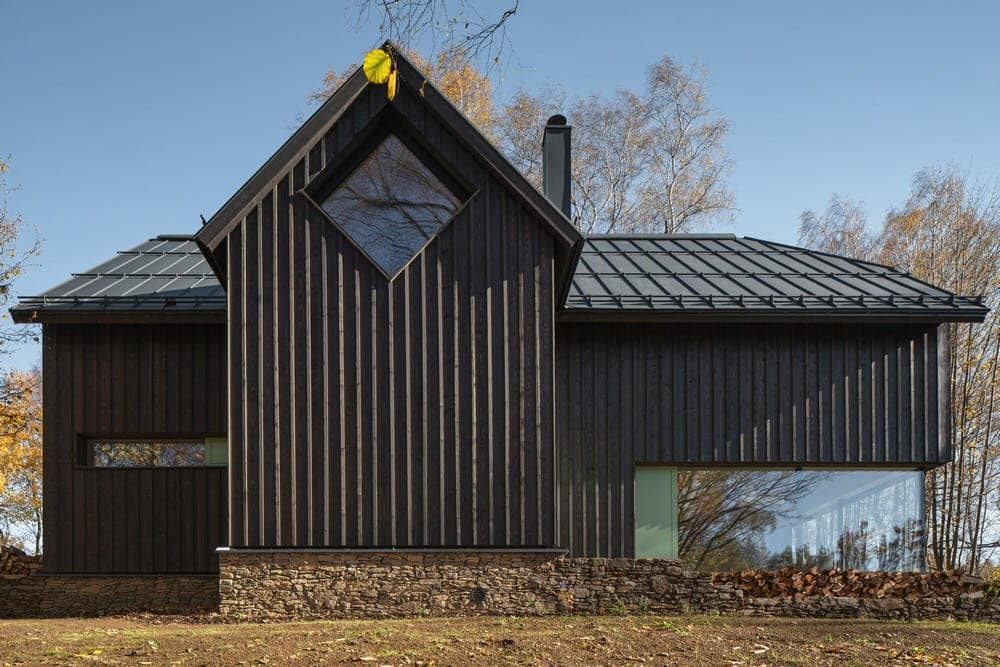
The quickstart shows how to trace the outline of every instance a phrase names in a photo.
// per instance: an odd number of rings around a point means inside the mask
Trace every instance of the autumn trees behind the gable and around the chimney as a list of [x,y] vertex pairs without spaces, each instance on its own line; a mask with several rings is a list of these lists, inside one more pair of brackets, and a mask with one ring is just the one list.
[[[573,125],[573,217],[582,231],[677,233],[729,220],[729,125],[708,103],[703,69],[664,57],[648,68],[639,91],[521,90],[500,105],[490,79],[468,59],[406,55],[539,187],[542,127],[553,114],[566,114]],[[328,72],[312,99],[325,100],[355,69]]]

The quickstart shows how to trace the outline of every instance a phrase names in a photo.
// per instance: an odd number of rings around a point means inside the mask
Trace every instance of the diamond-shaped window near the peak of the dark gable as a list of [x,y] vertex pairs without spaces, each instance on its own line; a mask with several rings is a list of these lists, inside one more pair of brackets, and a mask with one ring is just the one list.
[[394,134],[323,203],[323,210],[389,277],[459,209],[455,194]]

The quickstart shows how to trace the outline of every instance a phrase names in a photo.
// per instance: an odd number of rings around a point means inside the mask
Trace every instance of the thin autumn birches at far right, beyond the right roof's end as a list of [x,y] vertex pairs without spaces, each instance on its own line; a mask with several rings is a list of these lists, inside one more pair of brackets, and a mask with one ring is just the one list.
[[880,229],[864,222],[858,204],[835,197],[825,212],[803,213],[799,239],[983,295],[992,309],[982,324],[945,325],[954,461],[926,476],[930,564],[977,570],[1000,547],[1000,191],[954,169],[925,169]]

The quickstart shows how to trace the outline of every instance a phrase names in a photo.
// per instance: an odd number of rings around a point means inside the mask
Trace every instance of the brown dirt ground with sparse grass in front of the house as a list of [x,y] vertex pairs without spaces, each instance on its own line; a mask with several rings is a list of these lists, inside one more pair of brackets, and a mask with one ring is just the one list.
[[1000,664],[1000,626],[686,616],[0,621],[0,665]]

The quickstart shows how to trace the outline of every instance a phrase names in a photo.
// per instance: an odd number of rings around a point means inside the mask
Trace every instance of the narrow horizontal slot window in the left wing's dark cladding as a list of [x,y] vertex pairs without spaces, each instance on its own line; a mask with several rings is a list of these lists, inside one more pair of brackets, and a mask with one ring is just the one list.
[[93,438],[86,465],[94,468],[189,468],[226,465],[225,438]]

